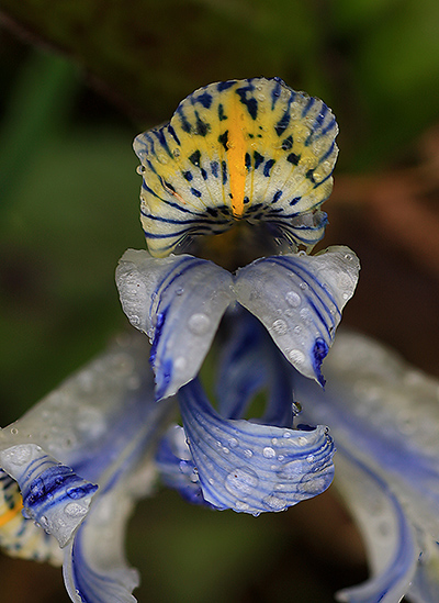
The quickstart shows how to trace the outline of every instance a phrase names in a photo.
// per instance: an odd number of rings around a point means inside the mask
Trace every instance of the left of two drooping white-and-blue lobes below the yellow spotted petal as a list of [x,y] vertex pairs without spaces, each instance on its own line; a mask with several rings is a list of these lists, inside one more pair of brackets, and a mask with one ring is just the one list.
[[122,306],[153,340],[156,395],[167,398],[198,373],[227,305],[232,276],[211,261],[126,252],[116,271]]

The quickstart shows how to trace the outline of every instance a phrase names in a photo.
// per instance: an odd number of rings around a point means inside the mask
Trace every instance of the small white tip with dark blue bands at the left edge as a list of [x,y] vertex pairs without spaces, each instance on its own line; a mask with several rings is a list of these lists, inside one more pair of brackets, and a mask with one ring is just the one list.
[[23,515],[37,522],[64,547],[86,517],[98,490],[60,465],[35,444],[22,444],[0,453],[2,468],[20,485]]

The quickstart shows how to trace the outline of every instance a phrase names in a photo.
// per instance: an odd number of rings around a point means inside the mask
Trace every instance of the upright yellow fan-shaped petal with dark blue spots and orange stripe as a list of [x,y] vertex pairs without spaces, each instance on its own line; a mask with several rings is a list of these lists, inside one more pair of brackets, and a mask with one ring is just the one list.
[[[200,88],[169,124],[134,142],[151,255],[169,255],[188,237],[222,233],[237,220],[263,221],[292,244],[314,245],[325,220],[313,225],[312,214],[331,192],[337,133],[324,102],[279,78]],[[306,214],[306,225],[294,224]]]

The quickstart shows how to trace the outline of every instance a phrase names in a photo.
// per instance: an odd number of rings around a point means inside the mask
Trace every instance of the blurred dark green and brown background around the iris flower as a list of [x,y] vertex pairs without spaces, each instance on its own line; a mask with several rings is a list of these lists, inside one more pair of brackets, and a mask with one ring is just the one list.
[[[340,157],[325,245],[350,245],[363,266],[345,323],[439,373],[439,259],[423,237],[414,255],[409,230],[386,237],[362,198],[362,178],[376,190],[383,175],[414,174],[431,180],[419,215],[439,220],[438,177],[423,171],[439,123],[437,0],[1,0],[0,11],[1,425],[126,328],[114,268],[144,246],[132,139],[230,78],[277,75],[331,107]],[[172,492],[145,501],[130,533],[140,603],[333,601],[364,568],[349,518],[320,499],[258,520]],[[58,570],[2,557],[0,572],[4,600],[67,600]]]

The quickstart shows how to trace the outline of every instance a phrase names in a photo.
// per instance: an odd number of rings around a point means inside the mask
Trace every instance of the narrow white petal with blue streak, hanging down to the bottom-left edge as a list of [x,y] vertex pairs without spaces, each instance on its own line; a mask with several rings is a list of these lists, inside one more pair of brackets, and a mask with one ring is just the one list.
[[75,539],[66,549],[64,580],[77,603],[135,603],[135,569],[126,563],[123,543],[132,511],[126,484],[98,496]]

